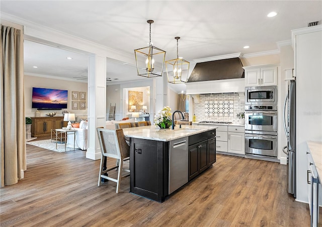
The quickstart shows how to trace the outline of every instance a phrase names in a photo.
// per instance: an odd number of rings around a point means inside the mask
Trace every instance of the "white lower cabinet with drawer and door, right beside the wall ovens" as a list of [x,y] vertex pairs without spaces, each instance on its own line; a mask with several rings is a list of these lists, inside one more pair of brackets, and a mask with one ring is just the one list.
[[245,128],[228,126],[228,152],[245,155]]

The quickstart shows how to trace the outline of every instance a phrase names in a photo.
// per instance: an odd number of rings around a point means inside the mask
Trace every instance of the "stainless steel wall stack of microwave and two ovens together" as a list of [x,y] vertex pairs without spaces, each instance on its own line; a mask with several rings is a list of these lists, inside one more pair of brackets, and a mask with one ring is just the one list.
[[246,87],[245,153],[277,158],[277,87]]

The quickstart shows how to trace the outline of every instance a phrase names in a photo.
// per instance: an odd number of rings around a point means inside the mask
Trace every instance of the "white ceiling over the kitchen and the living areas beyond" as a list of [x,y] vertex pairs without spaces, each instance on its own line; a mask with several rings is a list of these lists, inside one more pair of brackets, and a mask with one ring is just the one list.
[[[322,1],[2,0],[0,7],[6,19],[26,20],[133,55],[131,62],[107,60],[107,77],[112,78],[107,84],[142,79],[136,75],[133,50],[147,46],[147,20],[154,20],[151,41],[167,51],[166,60],[176,58],[174,37],[180,36],[179,56],[192,62],[239,52],[274,51],[276,42],[291,40],[291,30],[322,19]],[[268,18],[272,11],[277,16]],[[250,48],[244,49],[246,45]],[[24,46],[28,74],[70,79],[87,75],[88,53],[31,41]]]

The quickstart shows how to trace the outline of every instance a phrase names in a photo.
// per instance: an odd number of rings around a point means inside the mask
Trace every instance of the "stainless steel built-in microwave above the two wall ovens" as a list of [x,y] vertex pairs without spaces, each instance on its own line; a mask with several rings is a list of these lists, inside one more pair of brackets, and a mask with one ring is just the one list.
[[245,88],[246,105],[277,105],[277,86]]

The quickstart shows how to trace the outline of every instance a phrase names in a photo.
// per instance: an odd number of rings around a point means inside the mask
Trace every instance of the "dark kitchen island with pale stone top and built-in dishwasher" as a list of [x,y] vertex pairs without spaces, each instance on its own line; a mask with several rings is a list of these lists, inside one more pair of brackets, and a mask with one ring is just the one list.
[[130,138],[130,192],[158,202],[216,161],[214,126],[123,129]]

